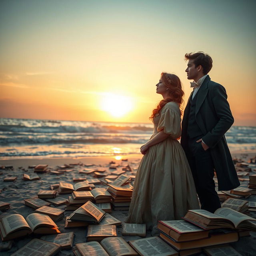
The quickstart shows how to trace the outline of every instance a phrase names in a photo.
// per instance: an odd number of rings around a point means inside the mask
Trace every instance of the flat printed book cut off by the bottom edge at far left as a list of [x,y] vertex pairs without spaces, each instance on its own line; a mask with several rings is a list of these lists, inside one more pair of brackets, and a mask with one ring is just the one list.
[[[40,256],[52,256],[59,252],[61,246],[41,239],[34,238],[27,244],[25,244],[18,251],[11,254],[11,256],[21,255],[40,255]],[[29,253],[29,254],[27,254]]]

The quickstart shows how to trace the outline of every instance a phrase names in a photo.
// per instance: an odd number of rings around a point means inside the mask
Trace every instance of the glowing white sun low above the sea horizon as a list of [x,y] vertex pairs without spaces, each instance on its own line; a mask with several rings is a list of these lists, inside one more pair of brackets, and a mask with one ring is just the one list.
[[101,109],[114,117],[124,116],[133,108],[132,100],[126,96],[107,93],[101,101]]

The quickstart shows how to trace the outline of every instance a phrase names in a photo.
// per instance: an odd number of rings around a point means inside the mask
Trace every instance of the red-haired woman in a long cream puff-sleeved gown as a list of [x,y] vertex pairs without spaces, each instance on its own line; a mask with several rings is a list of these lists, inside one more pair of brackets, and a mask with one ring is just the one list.
[[136,174],[127,223],[146,223],[157,235],[158,220],[179,220],[189,209],[199,209],[194,180],[186,155],[177,139],[181,135],[181,82],[162,73],[156,84],[161,94],[151,119],[154,133],[141,146],[144,154]]

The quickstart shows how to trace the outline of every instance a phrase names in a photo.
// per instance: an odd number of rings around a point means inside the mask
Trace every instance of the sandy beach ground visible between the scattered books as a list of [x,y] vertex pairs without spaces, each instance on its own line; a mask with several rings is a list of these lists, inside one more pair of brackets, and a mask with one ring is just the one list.
[[[242,153],[242,152],[235,152],[233,154],[234,158],[238,158],[243,160],[244,162],[248,162],[250,158],[255,157],[255,153]],[[28,216],[28,214],[31,214],[34,212],[34,209],[25,206],[23,204],[23,200],[27,198],[35,197],[39,190],[49,190],[49,187],[51,184],[59,183],[60,181],[63,182],[69,182],[73,183],[73,178],[93,178],[93,174],[79,174],[79,170],[83,170],[85,168],[97,168],[97,167],[104,167],[106,168],[106,174],[111,174],[113,170],[109,169],[109,163],[111,161],[114,161],[116,164],[119,164],[120,167],[118,169],[122,169],[122,166],[125,166],[129,164],[133,172],[126,172],[126,174],[129,175],[135,175],[136,170],[138,168],[138,164],[140,162],[140,159],[142,158],[141,154],[132,154],[127,156],[122,156],[122,159],[116,160],[116,156],[104,156],[104,157],[86,157],[86,158],[42,158],[42,159],[9,159],[9,160],[0,160],[0,166],[13,166],[13,168],[6,168],[3,170],[0,170],[2,174],[0,175],[1,181],[0,181],[0,201],[2,202],[8,202],[10,203],[10,209],[0,211],[0,216],[7,216],[9,214],[22,214],[25,218]],[[126,161],[123,161],[125,160]],[[71,172],[64,172],[64,174],[61,175],[53,175],[48,173],[42,173],[38,174],[40,176],[40,180],[35,181],[25,181],[22,179],[23,173],[26,174],[33,174],[34,169],[29,168],[29,166],[37,165],[37,164],[48,164],[48,168],[50,170],[57,170],[59,169],[58,166],[62,166],[64,164],[78,164],[72,166],[73,171]],[[86,167],[86,164],[93,164],[93,166]],[[255,164],[251,164],[250,167],[252,169],[256,168]],[[69,168],[70,169],[70,168]],[[14,182],[3,182],[3,179],[8,176],[16,176],[17,179]],[[248,176],[247,176],[248,178]],[[102,180],[103,178],[99,178]],[[133,181],[132,181],[133,183]],[[248,181],[242,181],[241,184],[246,184]],[[96,188],[100,187],[107,187],[103,184],[96,184]],[[61,195],[64,198],[68,198],[70,194],[62,194]],[[256,202],[256,196],[250,196],[247,199],[248,201]],[[64,209],[64,205],[62,206],[53,206],[55,208]],[[72,211],[65,211],[64,216],[69,216]],[[111,215],[117,218],[118,220],[124,222],[126,219],[126,216],[128,214],[127,210],[112,210]],[[250,216],[256,217],[256,214],[251,213]],[[74,231],[75,233],[75,240],[74,244],[76,243],[82,243],[85,242],[85,228],[72,228],[72,229],[64,229],[64,219],[62,218],[58,222],[56,222],[58,228],[62,233],[64,232],[70,232]],[[241,237],[238,242],[234,242],[231,245],[238,251],[240,254],[244,256],[253,256],[255,255],[255,240],[256,240],[256,232],[250,232],[250,237]],[[118,228],[118,236],[122,236],[122,227]],[[150,236],[150,232],[147,232],[147,237]],[[24,246],[26,243],[28,243],[34,236],[26,236],[23,238],[18,238],[14,240],[14,243],[12,245],[12,248],[9,251],[6,252],[0,252],[0,255],[2,256],[9,256],[13,252],[17,251],[19,248]],[[40,238],[40,236],[37,236]],[[126,241],[129,240],[135,240],[140,239],[139,236],[122,236]],[[62,250],[57,255],[74,255],[72,250]],[[204,255],[204,254],[199,254]]]

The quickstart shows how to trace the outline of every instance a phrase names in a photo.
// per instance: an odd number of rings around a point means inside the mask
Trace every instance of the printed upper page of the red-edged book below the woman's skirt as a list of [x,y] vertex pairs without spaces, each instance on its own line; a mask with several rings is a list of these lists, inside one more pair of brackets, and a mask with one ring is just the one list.
[[161,220],[160,223],[165,224],[178,233],[203,231],[202,228],[199,228],[198,226],[195,226],[186,220]]

